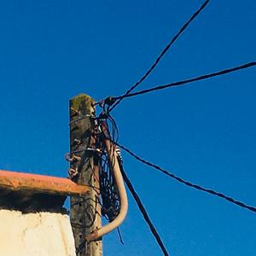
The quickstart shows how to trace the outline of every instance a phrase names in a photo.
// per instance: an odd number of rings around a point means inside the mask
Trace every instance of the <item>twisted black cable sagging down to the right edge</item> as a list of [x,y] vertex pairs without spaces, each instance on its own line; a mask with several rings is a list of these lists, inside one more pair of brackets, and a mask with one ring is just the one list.
[[216,191],[214,191],[214,190],[212,190],[212,189],[205,189],[205,188],[203,188],[203,187],[201,187],[201,186],[199,186],[199,185],[190,183],[189,181],[186,181],[186,180],[184,180],[183,178],[177,177],[175,174],[166,171],[165,169],[161,168],[160,166],[157,166],[157,165],[155,165],[155,164],[153,164],[153,163],[150,163],[150,162],[148,162],[148,160],[142,159],[141,157],[137,156],[137,154],[134,154],[133,152],[131,152],[131,150],[130,150],[129,148],[125,148],[124,146],[120,145],[119,143],[115,143],[115,144],[118,145],[119,148],[124,149],[125,152],[127,152],[128,154],[131,154],[132,157],[134,157],[135,159],[139,160],[139,161],[142,162],[143,164],[145,164],[145,165],[147,165],[147,166],[151,166],[151,167],[153,167],[154,169],[156,169],[156,170],[158,170],[158,171],[160,171],[160,172],[166,174],[167,176],[176,179],[177,182],[179,182],[179,183],[183,183],[183,184],[185,184],[185,185],[187,185],[187,186],[189,186],[189,187],[191,187],[191,188],[194,188],[194,189],[198,189],[198,190],[207,192],[207,193],[209,193],[209,194],[211,194],[211,195],[216,195],[216,196],[218,196],[218,197],[220,197],[220,198],[223,198],[223,199],[226,200],[226,201],[230,201],[231,203],[236,204],[236,205],[239,206],[239,207],[245,208],[245,209],[250,210],[250,211],[252,211],[252,212],[256,212],[256,207],[247,206],[245,203],[243,203],[243,202],[241,202],[241,201],[237,201],[237,200],[233,199],[233,198],[230,197],[230,196],[224,195],[223,193],[216,192]]

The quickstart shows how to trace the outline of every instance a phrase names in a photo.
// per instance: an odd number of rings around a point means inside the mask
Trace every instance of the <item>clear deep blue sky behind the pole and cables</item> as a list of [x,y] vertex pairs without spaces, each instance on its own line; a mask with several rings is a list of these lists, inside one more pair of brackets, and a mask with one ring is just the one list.
[[[67,176],[68,100],[137,81],[202,1],[1,1],[0,168]],[[256,60],[256,3],[211,1],[140,85]],[[119,143],[194,183],[256,205],[255,68],[137,96],[113,111]],[[125,170],[172,256],[255,255],[255,213],[163,177]],[[105,255],[161,255],[130,199]]]

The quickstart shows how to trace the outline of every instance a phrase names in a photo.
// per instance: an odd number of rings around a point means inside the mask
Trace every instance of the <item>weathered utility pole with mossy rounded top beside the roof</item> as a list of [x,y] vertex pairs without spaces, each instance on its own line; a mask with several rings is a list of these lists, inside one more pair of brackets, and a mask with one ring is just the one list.
[[77,256],[102,256],[102,241],[87,244],[85,236],[101,227],[99,204],[99,163],[96,152],[94,100],[85,94],[69,102],[70,161],[69,175],[79,185],[90,185],[85,196],[71,196],[71,224]]

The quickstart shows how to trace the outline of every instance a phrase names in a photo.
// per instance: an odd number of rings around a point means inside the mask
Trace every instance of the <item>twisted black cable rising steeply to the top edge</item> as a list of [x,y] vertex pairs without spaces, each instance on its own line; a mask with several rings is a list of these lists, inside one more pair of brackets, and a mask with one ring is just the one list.
[[[189,26],[189,24],[195,20],[196,16],[199,15],[201,13],[201,10],[204,9],[207,6],[207,3],[209,3],[209,0],[207,0],[205,3],[203,3],[201,5],[201,8],[198,9],[194,15],[192,15],[190,17],[190,19],[182,26],[182,28],[177,32],[177,34],[172,38],[171,42],[169,44],[166,45],[166,48],[162,50],[162,52],[160,53],[160,55],[156,58],[156,60],[154,61],[154,64],[148,69],[148,71],[143,75],[143,77],[141,79],[139,79],[137,81],[136,84],[132,85],[131,88],[129,90],[127,90],[125,92],[125,96],[127,96],[128,94],[130,94],[131,90],[134,90],[139,84],[141,84],[143,82],[143,80],[145,80],[148,75],[154,70],[154,67],[156,67],[156,65],[159,63],[160,59],[166,54],[166,52],[168,51],[168,49],[170,49],[170,47],[172,46],[172,44],[174,44],[177,40],[177,38],[184,32],[184,30]],[[124,96],[124,97],[125,97]],[[122,101],[122,99],[124,98],[119,98],[118,102],[114,102],[113,106],[111,108],[108,109],[108,111],[110,112],[111,110],[113,110],[113,108],[115,108],[119,102]]]

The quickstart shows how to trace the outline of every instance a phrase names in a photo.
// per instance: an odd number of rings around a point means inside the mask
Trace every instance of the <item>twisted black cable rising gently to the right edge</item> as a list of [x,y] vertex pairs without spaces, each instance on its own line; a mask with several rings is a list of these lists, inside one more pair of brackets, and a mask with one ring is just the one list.
[[195,81],[210,79],[212,77],[217,77],[217,76],[220,76],[220,75],[224,75],[226,73],[236,72],[238,70],[245,69],[245,68],[248,68],[248,67],[253,67],[255,65],[256,65],[255,61],[248,62],[248,63],[243,64],[241,66],[231,67],[231,68],[228,68],[228,69],[218,71],[216,73],[209,73],[209,74],[201,75],[201,76],[193,78],[193,79],[186,79],[186,80],[174,82],[174,83],[171,83],[171,84],[163,84],[163,85],[155,86],[155,87],[150,88],[150,89],[140,90],[140,91],[131,93],[129,95],[124,94],[123,96],[113,97],[113,100],[116,101],[116,100],[119,100],[119,99],[124,99],[124,98],[132,97],[132,96],[142,95],[142,94],[154,91],[154,90],[163,90],[163,89],[166,89],[166,88],[169,88],[169,87],[172,87],[172,86],[179,86],[179,85],[183,85],[183,84],[189,84],[189,83],[192,83],[192,82],[195,82]]

